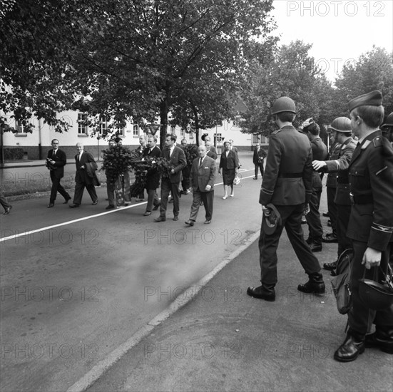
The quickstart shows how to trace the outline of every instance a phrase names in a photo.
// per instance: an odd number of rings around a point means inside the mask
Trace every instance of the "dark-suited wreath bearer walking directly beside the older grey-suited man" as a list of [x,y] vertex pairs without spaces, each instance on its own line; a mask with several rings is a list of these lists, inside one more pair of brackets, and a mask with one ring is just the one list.
[[162,157],[170,161],[173,169],[168,174],[165,173],[161,176],[160,216],[154,222],[164,222],[166,220],[169,192],[173,197],[173,220],[179,220],[179,183],[181,171],[187,165],[187,160],[185,160],[184,151],[177,147],[175,143],[176,135],[166,135]]

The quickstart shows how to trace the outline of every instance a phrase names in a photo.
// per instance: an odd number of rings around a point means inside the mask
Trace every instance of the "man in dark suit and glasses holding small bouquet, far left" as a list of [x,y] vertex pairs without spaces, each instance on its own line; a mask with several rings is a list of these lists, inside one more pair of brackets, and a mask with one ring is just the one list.
[[68,192],[60,184],[61,178],[64,177],[64,166],[67,163],[66,153],[58,148],[57,139],[53,139],[51,145],[53,149],[48,151],[48,158],[46,158],[46,167],[49,169],[52,181],[48,208],[55,205],[57,192],[64,197],[65,201],[63,204],[67,204],[68,200],[71,200],[71,196],[68,195]]

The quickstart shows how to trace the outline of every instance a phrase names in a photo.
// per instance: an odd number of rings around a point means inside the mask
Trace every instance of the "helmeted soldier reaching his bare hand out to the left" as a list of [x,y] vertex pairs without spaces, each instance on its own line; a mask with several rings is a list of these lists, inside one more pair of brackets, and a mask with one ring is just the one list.
[[[328,173],[337,176],[337,188],[335,195],[335,205],[337,208],[337,259],[345,249],[352,248],[352,242],[347,237],[347,227],[349,215],[351,213],[351,200],[349,199],[349,179],[348,166],[356,147],[352,139],[351,120],[347,117],[338,117],[333,120],[329,127],[332,130],[335,140],[340,143],[341,147],[336,160],[314,160],[312,167],[315,170],[326,170]],[[324,269],[332,271],[337,267],[337,260],[332,263],[323,264]]]

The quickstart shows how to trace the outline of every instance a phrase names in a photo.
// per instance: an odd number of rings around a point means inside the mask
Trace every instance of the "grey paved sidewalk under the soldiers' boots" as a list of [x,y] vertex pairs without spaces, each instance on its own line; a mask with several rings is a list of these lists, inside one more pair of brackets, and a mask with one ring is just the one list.
[[[393,356],[366,349],[350,363],[332,358],[347,317],[336,310],[330,274],[324,296],[297,292],[307,276],[285,242],[275,302],[245,293],[259,284],[256,241],[88,391],[392,391]],[[334,251],[328,244],[320,262]],[[174,288],[160,289],[150,299],[169,304]]]

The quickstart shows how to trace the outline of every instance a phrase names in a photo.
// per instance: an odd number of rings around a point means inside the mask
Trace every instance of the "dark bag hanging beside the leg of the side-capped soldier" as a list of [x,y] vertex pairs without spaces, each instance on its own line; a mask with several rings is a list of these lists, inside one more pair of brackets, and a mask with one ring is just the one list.
[[347,314],[352,308],[351,287],[351,263],[353,249],[345,249],[337,260],[337,276],[332,279],[332,289],[335,294],[337,310],[340,314]]

